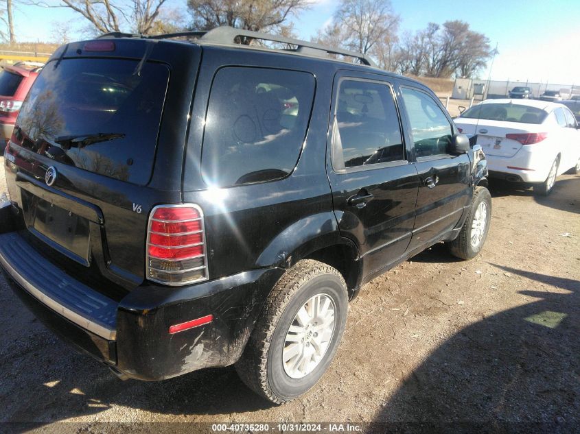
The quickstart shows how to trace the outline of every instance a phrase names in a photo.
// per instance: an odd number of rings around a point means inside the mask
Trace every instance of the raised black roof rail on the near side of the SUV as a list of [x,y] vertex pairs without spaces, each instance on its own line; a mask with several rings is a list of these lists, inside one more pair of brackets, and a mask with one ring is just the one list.
[[377,66],[369,56],[367,56],[366,54],[357,53],[356,51],[326,47],[325,45],[309,43],[306,42],[305,40],[286,38],[286,36],[278,36],[262,32],[252,32],[251,30],[236,29],[234,27],[229,26],[216,27],[214,29],[208,30],[207,32],[205,31],[178,32],[143,37],[152,39],[162,39],[162,38],[178,38],[182,36],[192,36],[195,38],[199,38],[199,40],[202,42],[216,43],[222,45],[233,45],[236,42],[235,40],[240,37],[269,40],[277,43],[296,45],[297,49],[295,51],[310,56],[326,57],[327,54],[338,54],[339,56],[347,56],[358,59],[362,64],[368,65],[369,67]]

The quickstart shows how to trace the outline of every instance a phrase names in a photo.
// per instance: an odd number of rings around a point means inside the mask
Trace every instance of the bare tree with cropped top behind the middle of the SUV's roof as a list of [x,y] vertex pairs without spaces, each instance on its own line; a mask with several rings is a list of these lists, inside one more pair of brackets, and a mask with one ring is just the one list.
[[229,25],[246,30],[288,33],[286,20],[308,8],[310,0],[187,0],[192,28]]

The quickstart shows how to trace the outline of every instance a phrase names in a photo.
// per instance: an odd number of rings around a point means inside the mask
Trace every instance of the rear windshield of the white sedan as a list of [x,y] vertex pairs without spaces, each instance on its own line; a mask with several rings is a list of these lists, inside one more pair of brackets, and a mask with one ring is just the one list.
[[541,108],[520,104],[478,104],[465,110],[460,117],[521,123],[542,123],[548,113]]

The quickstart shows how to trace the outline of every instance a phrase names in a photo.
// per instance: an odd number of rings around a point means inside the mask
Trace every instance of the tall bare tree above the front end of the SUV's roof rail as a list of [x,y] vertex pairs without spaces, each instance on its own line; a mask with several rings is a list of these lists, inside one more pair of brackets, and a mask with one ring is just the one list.
[[390,66],[399,21],[390,0],[342,0],[332,24],[318,32],[316,40],[369,53]]

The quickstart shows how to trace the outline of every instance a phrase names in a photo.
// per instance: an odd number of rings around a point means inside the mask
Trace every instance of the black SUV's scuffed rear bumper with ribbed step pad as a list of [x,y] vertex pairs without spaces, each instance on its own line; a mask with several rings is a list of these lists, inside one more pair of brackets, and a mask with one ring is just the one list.
[[[189,287],[143,285],[121,302],[56,268],[17,232],[0,234],[0,270],[60,337],[131,378],[171,378],[239,359],[283,269],[256,269]],[[205,315],[213,322],[170,334]]]

